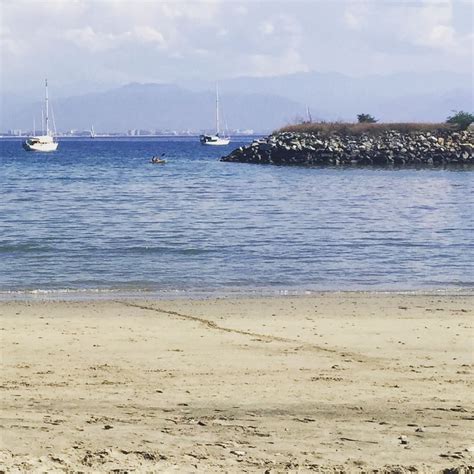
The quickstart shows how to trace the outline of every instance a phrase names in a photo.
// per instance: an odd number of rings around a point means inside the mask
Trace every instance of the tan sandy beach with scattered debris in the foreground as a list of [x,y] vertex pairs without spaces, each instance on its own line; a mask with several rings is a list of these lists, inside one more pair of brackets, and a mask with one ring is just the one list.
[[446,294],[1,302],[0,466],[472,472],[473,314]]

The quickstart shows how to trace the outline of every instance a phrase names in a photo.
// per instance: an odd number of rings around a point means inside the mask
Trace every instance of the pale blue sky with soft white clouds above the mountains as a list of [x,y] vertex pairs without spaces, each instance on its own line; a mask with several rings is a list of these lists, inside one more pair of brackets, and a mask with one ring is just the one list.
[[0,85],[472,74],[473,16],[471,0],[0,0]]

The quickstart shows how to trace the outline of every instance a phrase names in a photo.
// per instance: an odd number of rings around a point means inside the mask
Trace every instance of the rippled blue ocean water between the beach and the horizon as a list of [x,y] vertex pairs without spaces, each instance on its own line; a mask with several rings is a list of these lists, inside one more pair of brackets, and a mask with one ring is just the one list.
[[0,140],[0,293],[473,287],[472,172],[220,162],[240,140]]

